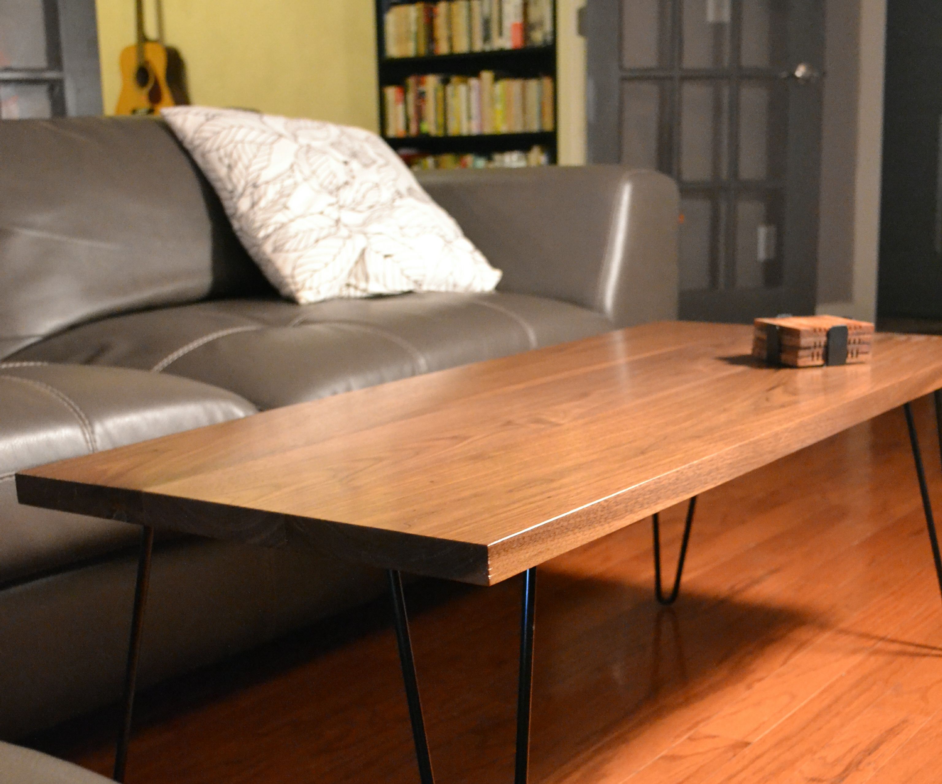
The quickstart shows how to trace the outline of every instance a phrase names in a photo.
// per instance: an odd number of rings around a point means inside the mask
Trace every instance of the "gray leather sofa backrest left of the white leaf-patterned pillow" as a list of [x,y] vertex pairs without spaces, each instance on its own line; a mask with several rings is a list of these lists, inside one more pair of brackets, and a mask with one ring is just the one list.
[[108,314],[258,292],[271,288],[164,123],[0,122],[0,357]]

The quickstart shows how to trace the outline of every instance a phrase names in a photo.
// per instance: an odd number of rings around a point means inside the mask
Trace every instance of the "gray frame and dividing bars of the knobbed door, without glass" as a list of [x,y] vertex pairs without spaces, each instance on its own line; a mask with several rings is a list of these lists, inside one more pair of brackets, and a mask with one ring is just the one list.
[[[622,150],[622,92],[625,81],[658,79],[670,85],[669,100],[662,102],[658,123],[658,169],[678,179],[680,86],[685,80],[723,77],[729,86],[729,127],[727,128],[727,177],[722,186],[710,185],[709,192],[725,204],[726,226],[723,247],[725,263],[710,271],[711,288],[679,292],[680,313],[686,319],[748,321],[759,315],[786,312],[811,314],[817,303],[818,279],[818,199],[820,185],[821,85],[788,81],[788,127],[813,128],[814,133],[788,134],[784,179],[777,189],[750,185],[739,180],[739,84],[742,81],[771,83],[781,75],[777,67],[743,68],[739,65],[741,8],[731,0],[729,65],[726,68],[685,69],[681,64],[682,0],[659,0],[660,17],[673,26],[670,64],[666,67],[626,69],[622,64],[622,8],[625,0],[588,0],[583,29],[586,36],[586,141],[590,163],[619,163]],[[789,67],[811,62],[819,68],[824,54],[824,6],[820,0],[790,0],[788,14]],[[811,91],[814,93],[811,93]],[[804,94],[803,94],[804,91]],[[666,110],[665,110],[666,107]],[[667,150],[665,155],[664,150]],[[771,180],[768,180],[771,182]],[[703,187],[678,182],[681,196],[703,193]],[[784,230],[778,232],[781,283],[761,288],[735,287],[732,249],[736,241],[736,210],[740,191],[771,194],[782,198]],[[723,195],[719,195],[719,194]],[[810,205],[810,206],[809,206]]]

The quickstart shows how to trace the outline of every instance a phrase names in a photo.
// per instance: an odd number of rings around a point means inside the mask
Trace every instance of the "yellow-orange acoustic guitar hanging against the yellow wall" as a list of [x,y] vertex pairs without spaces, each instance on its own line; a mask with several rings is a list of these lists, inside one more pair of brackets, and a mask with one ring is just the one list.
[[161,15],[157,38],[144,33],[143,0],[135,0],[137,42],[122,50],[122,89],[115,114],[155,114],[165,106],[188,104],[183,59],[164,45]]

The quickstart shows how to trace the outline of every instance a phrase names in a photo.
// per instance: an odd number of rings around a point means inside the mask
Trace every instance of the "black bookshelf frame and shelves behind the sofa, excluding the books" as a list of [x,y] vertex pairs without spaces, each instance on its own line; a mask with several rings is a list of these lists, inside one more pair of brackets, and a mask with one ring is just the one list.
[[525,46],[520,49],[491,49],[484,52],[464,52],[452,55],[428,55],[425,57],[386,57],[384,19],[386,11],[394,5],[410,5],[408,0],[376,0],[376,46],[378,63],[379,116],[381,132],[386,127],[385,106],[382,89],[402,85],[416,73],[440,73],[443,75],[475,76],[481,71],[493,71],[498,76],[533,78],[552,76],[553,127],[555,131],[530,133],[481,134],[476,136],[418,136],[386,137],[394,150],[411,150],[431,155],[442,153],[467,153],[486,155],[511,150],[527,151],[541,145],[547,151],[551,163],[558,160],[559,139],[559,82],[557,79],[556,35],[559,20],[556,19],[556,2],[552,3],[554,16],[553,43],[541,46]]

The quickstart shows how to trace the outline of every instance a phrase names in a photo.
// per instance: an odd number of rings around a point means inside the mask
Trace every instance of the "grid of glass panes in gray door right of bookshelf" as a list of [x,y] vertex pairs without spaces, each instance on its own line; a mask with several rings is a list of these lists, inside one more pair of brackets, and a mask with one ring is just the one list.
[[622,159],[678,181],[684,290],[781,285],[786,6],[622,2]]

